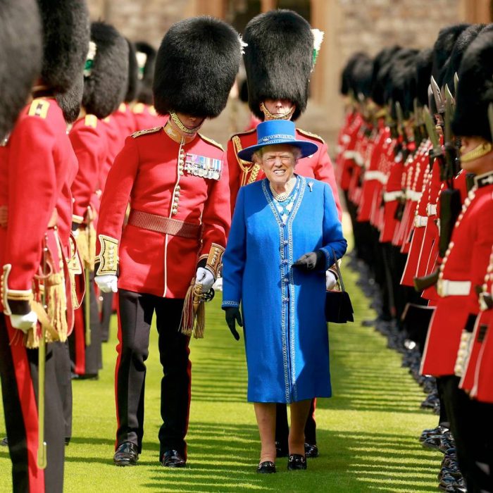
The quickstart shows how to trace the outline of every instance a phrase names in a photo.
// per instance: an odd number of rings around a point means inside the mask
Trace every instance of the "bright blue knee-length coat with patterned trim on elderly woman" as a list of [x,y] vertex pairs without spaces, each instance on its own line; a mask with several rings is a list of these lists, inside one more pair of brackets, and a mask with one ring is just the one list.
[[325,268],[347,248],[330,187],[300,177],[286,225],[268,180],[239,189],[223,256],[223,308],[242,303],[248,400],[293,402],[330,397],[325,273],[292,263],[322,249]]

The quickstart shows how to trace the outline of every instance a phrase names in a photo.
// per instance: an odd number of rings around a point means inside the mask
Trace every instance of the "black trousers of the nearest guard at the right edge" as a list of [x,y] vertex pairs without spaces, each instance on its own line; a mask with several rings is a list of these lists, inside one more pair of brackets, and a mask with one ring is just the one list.
[[[447,414],[454,435],[458,466],[469,493],[493,491],[493,404],[470,399],[456,376],[442,377]],[[487,470],[489,469],[489,474]]]

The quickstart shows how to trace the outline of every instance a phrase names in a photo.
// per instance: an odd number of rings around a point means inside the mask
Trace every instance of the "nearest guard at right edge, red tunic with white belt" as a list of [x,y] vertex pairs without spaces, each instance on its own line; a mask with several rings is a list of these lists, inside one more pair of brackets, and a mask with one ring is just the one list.
[[[461,137],[461,166],[475,173],[449,248],[439,269],[439,299],[421,370],[442,377],[444,402],[468,491],[491,491],[493,404],[470,399],[458,387],[463,373],[461,342],[470,338],[480,312],[481,289],[493,245],[493,148],[488,108],[493,105],[493,32],[480,34],[458,73],[454,134]],[[493,111],[490,108],[490,111]]]

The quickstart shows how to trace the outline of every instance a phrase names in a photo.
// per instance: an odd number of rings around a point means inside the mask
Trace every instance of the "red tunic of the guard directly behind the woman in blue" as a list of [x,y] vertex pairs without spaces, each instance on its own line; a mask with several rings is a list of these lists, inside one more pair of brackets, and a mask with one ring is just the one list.
[[[339,193],[335,182],[334,168],[327,152],[327,144],[318,135],[297,129],[297,139],[306,140],[317,144],[318,150],[315,154],[302,158],[295,168],[297,174],[308,178],[316,178],[330,185],[337,206],[339,219],[342,218],[342,208],[339,202]],[[257,143],[256,129],[233,135],[227,142],[227,167],[230,175],[231,211],[236,204],[236,196],[239,187],[248,183],[262,180],[265,175],[258,165],[240,159],[237,155],[242,149]]]

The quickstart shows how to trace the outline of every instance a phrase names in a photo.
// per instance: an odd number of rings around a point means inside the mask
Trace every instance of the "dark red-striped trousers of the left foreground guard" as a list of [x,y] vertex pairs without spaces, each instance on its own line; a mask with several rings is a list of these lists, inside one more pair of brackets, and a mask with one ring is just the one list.
[[53,345],[46,345],[44,441],[47,466],[39,470],[36,463],[38,351],[25,349],[20,344],[11,345],[14,334],[16,330],[11,329],[9,337],[4,314],[0,313],[0,376],[13,491],[62,492],[65,429],[61,425],[63,409],[56,380]]

